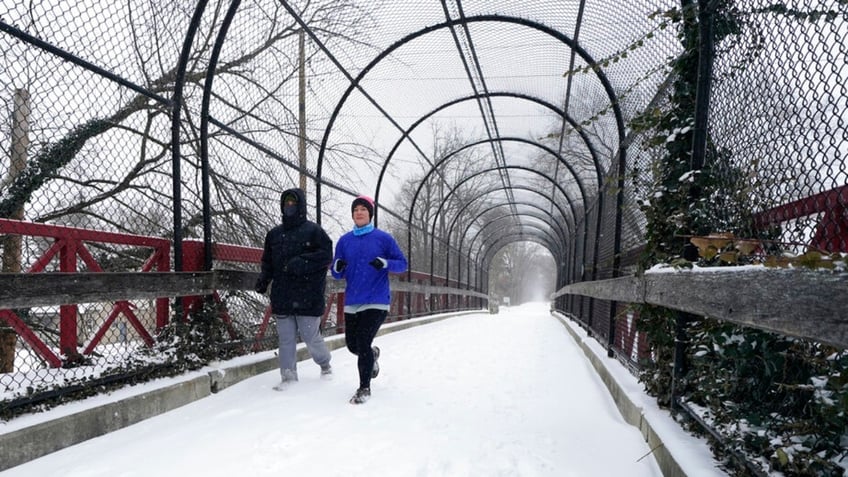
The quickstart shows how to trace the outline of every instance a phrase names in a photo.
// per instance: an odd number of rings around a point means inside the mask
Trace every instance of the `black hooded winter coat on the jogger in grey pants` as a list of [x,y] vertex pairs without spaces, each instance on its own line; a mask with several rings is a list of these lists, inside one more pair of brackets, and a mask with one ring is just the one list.
[[281,200],[291,193],[299,198],[298,214],[291,219],[284,216],[283,223],[265,236],[256,290],[264,292],[271,283],[271,310],[275,315],[321,316],[333,241],[320,225],[306,219],[303,190],[289,189]]

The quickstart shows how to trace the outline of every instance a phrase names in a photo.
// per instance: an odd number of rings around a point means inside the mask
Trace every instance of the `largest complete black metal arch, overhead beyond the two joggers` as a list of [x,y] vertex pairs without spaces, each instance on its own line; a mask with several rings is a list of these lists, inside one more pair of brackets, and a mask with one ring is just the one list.
[[[312,32],[312,30],[309,29],[306,26],[305,23],[303,23],[303,20],[299,16],[296,15],[296,12],[294,12],[286,2],[283,2],[283,5],[286,8],[286,10],[289,11],[289,13],[301,25],[301,27],[303,27],[309,33],[310,37],[312,37],[312,39],[317,42],[317,44],[321,47],[321,49],[324,50],[326,53],[329,53],[326,49],[326,46],[324,46],[324,44],[320,41],[320,39],[318,39],[315,36],[315,34]],[[452,28],[453,26],[456,26],[456,25],[459,25],[459,24],[466,25],[466,24],[477,23],[477,22],[515,23],[515,24],[518,24],[518,25],[533,28],[533,29],[538,30],[542,33],[545,33],[549,36],[552,36],[552,37],[558,39],[560,42],[569,46],[572,49],[573,52],[576,52],[578,55],[580,55],[580,57],[586,62],[586,64],[589,64],[589,65],[596,65],[597,64],[595,59],[586,50],[584,50],[577,42],[575,42],[574,40],[572,40],[568,36],[562,34],[561,32],[559,32],[559,31],[557,31],[553,28],[550,28],[548,26],[545,26],[545,25],[542,25],[540,23],[537,23],[537,22],[534,22],[534,21],[531,21],[531,20],[527,20],[527,19],[524,19],[524,18],[508,17],[508,16],[504,16],[504,15],[478,15],[478,16],[472,16],[472,17],[465,17],[461,20],[448,20],[448,21],[443,22],[443,23],[439,23],[439,24],[436,24],[436,25],[431,25],[431,26],[422,28],[421,30],[418,30],[416,32],[413,32],[413,33],[403,37],[402,39],[398,40],[397,42],[393,43],[388,48],[386,48],[385,50],[380,52],[373,60],[371,60],[371,62],[369,62],[364,68],[362,68],[362,70],[360,70],[360,72],[356,76],[356,78],[353,78],[351,80],[350,86],[348,86],[348,88],[342,94],[341,98],[339,99],[339,102],[336,103],[336,107],[333,110],[333,113],[330,115],[330,119],[327,122],[327,127],[324,130],[324,136],[321,139],[321,147],[318,150],[318,163],[317,163],[317,166],[316,166],[316,172],[317,172],[318,177],[322,176],[323,165],[324,165],[324,154],[325,154],[325,151],[327,149],[327,142],[329,141],[330,131],[333,129],[333,125],[335,124],[336,119],[338,118],[338,116],[340,114],[342,106],[347,102],[347,98],[350,96],[350,94],[353,92],[353,90],[355,90],[355,89],[361,90],[359,83],[362,81],[362,79],[368,73],[370,73],[370,71],[378,63],[380,63],[384,58],[389,56],[389,54],[391,54],[394,50],[400,48],[401,46],[405,45],[406,43],[408,43],[412,40],[415,40],[418,37],[424,36],[428,33],[432,33],[434,31],[437,31],[437,30],[440,30],[440,29],[443,29],[443,28]],[[594,72],[594,74],[598,78],[598,81],[600,81],[601,85],[603,86],[604,91],[607,94],[607,97],[610,99],[610,104],[612,105],[612,111],[613,111],[613,114],[614,114],[615,119],[616,119],[616,126],[618,128],[618,138],[619,138],[619,154],[618,154],[619,155],[619,184],[618,185],[619,185],[619,191],[620,191],[619,192],[619,204],[618,205],[619,205],[619,207],[621,207],[621,205],[622,205],[621,203],[623,202],[623,197],[621,197],[621,193],[622,193],[621,191],[623,191],[623,185],[624,185],[624,172],[625,172],[624,158],[625,158],[625,156],[624,156],[623,151],[621,150],[620,145],[624,143],[624,137],[625,137],[625,134],[624,134],[625,133],[625,131],[624,131],[624,129],[625,129],[624,128],[624,119],[623,119],[623,115],[622,115],[622,112],[621,112],[621,108],[619,107],[618,101],[616,100],[617,96],[616,96],[615,91],[613,90],[612,85],[611,85],[609,79],[607,78],[606,74],[604,74],[603,71],[600,68],[593,68],[592,71]],[[364,91],[363,91],[363,93],[364,93]],[[399,127],[397,122],[393,121],[391,119],[391,117],[387,113],[385,113],[385,111],[383,111],[382,108],[379,108],[379,105],[376,104],[376,101],[374,101],[373,98],[371,98],[367,94],[365,96],[375,106],[377,106],[378,109],[381,112],[383,112],[383,114],[392,122],[392,124],[395,127],[397,127],[401,132],[403,132],[403,130]],[[421,152],[420,149],[419,149],[419,152]],[[422,156],[424,156],[424,158],[427,159],[426,155],[422,154]],[[429,160],[428,160],[428,162],[429,162]],[[431,165],[432,165],[432,163],[431,163]],[[318,209],[316,211],[316,214],[320,217],[320,215],[321,215],[321,209],[320,209],[320,207],[321,207],[321,181],[316,182],[315,193],[316,193],[316,207]],[[619,222],[620,222],[620,219],[619,219]],[[620,223],[616,225],[616,228],[617,228],[617,230],[620,229]],[[618,230],[618,233],[620,234],[620,230]],[[620,241],[620,237],[619,237],[619,241]]]

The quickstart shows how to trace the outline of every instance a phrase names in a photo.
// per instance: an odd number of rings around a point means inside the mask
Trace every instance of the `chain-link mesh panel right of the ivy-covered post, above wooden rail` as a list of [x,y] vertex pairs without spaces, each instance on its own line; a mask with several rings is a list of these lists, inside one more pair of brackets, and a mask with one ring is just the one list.
[[732,195],[716,199],[723,207],[715,214],[728,228],[745,220],[756,228],[766,225],[763,215],[789,204],[784,221],[768,222],[779,227],[769,238],[804,251],[830,224],[830,240],[823,240],[830,246],[814,245],[848,251],[848,196],[840,198],[848,183],[845,7],[797,3],[798,10],[781,12],[767,2],[743,2],[740,33],[716,45],[710,159]]

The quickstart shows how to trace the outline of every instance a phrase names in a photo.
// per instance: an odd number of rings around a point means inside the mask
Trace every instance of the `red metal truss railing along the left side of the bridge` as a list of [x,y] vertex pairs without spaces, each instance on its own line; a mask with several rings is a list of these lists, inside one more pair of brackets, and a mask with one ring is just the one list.
[[[167,239],[8,219],[0,219],[0,235],[21,235],[52,240],[49,247],[35,258],[25,273],[45,273],[54,261],[57,262],[54,270],[59,272],[81,273],[82,269],[90,273],[103,272],[103,266],[89,251],[88,245],[91,243],[148,247],[151,249],[150,256],[145,260],[139,272],[170,271],[171,242]],[[185,241],[183,250],[185,271],[203,271],[203,243]],[[214,244],[212,254],[213,261],[258,265],[261,261],[262,249]],[[411,275],[411,282],[415,284],[413,288],[420,286],[421,290],[412,292],[393,291],[390,321],[399,319],[399,317],[442,311],[450,307],[467,308],[469,306],[469,297],[454,297],[449,293],[426,291],[426,286],[431,284],[429,274],[413,272]],[[398,278],[405,281],[406,274],[398,275]],[[433,285],[437,287],[445,286],[445,281],[441,277],[435,277]],[[344,290],[340,289],[333,280],[330,280],[328,291],[327,307],[321,325],[322,328],[326,328],[330,313],[335,308],[335,332],[341,333],[344,331]],[[183,318],[199,310],[203,306],[203,299],[204,297],[200,296],[183,297],[181,302]],[[238,333],[233,324],[233,317],[227,310],[226,303],[217,291],[212,294],[212,299],[220,305],[218,317],[225,323],[230,337],[237,339]],[[147,346],[154,344],[154,336],[156,336],[157,331],[167,325],[169,321],[169,299],[167,297],[155,299],[156,328],[153,330],[147,329],[143,321],[136,316],[132,303],[127,300],[115,301],[106,319],[99,324],[88,343],[82,346],[80,353],[78,350],[78,305],[66,304],[59,308],[58,353],[45,343],[13,310],[0,310],[0,320],[10,326],[50,367],[61,367],[64,364],[91,355],[119,317],[124,317],[133,326]],[[270,317],[271,309],[268,306],[263,313],[263,319],[257,328],[256,336],[254,336],[254,350],[261,345],[262,339],[265,337]]]

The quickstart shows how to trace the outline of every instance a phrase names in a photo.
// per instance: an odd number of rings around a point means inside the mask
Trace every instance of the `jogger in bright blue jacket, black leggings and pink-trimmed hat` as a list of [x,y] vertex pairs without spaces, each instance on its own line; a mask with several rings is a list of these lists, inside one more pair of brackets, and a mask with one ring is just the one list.
[[350,206],[353,230],[336,244],[331,272],[345,279],[345,341],[358,356],[359,389],[351,404],[362,404],[371,396],[371,379],[380,372],[380,348],[372,346],[391,303],[389,273],[406,271],[407,261],[395,239],[371,222],[374,200],[361,195]]

